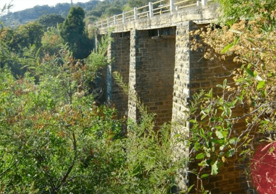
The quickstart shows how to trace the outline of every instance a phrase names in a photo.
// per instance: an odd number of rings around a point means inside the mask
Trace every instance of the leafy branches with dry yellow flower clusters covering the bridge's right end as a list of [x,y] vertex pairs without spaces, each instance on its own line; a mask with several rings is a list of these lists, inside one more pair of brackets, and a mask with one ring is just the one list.
[[[272,0],[218,2],[222,11],[219,20],[222,29],[210,25],[191,32],[195,37],[193,49],[203,47],[204,58],[214,64],[234,56],[233,63],[241,64],[241,67],[230,72],[231,79],[217,85],[221,95],[213,95],[210,90],[193,96],[190,143],[199,160],[198,180],[216,175],[219,167],[235,154],[252,158],[256,145],[260,144],[257,137],[267,141],[269,152],[264,154],[275,155],[276,3]],[[197,41],[198,36],[202,41]],[[230,83],[232,79],[233,84]],[[239,115],[237,107],[242,108]],[[236,113],[233,113],[235,108]],[[239,122],[246,123],[243,130],[234,127]],[[262,159],[251,160],[248,167],[257,163],[263,164]],[[274,167],[260,169],[262,165],[257,166],[245,169],[247,180],[252,180],[251,186],[259,192],[275,193],[275,179],[267,179],[273,177]],[[204,169],[209,167],[210,173],[204,174]],[[260,185],[261,180],[267,185]],[[196,189],[199,193],[204,192],[200,184]]]

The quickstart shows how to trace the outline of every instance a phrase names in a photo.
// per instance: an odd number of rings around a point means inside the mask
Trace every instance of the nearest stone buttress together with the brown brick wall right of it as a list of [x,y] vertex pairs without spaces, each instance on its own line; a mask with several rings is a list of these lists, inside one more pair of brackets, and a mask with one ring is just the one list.
[[[175,61],[175,80],[174,80],[174,98],[173,98],[173,117],[172,122],[177,122],[178,125],[173,129],[174,132],[187,132],[189,124],[186,122],[187,115],[184,110],[187,110],[189,98],[195,92],[201,89],[209,91],[211,88],[216,88],[218,83],[222,83],[227,78],[228,83],[233,83],[229,77],[229,71],[239,67],[232,62],[232,58],[226,61],[214,63],[213,61],[205,60],[203,50],[190,51],[189,36],[187,33],[190,30],[196,30],[203,25],[196,25],[193,22],[184,22],[177,25],[176,36],[176,61]],[[214,89],[214,95],[220,95],[221,90]],[[242,107],[236,107],[233,110],[235,116],[243,113]],[[235,123],[235,130],[242,130],[245,126],[244,122]],[[188,149],[184,144],[179,144],[175,150],[176,159],[188,155]],[[221,171],[216,176],[211,176],[203,180],[205,188],[212,194],[246,194],[247,185],[245,176],[242,173],[243,167],[246,165],[238,161],[238,156],[234,156],[228,160],[228,163],[221,168]],[[189,164],[189,168],[197,168],[197,164]],[[189,185],[196,184],[196,177],[189,174],[187,177],[187,168],[181,171],[179,178],[179,186],[185,188],[186,179],[189,178]],[[208,169],[207,169],[208,171]],[[196,193],[191,190],[191,194]]]

